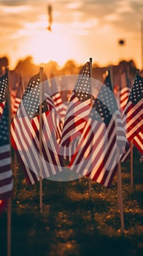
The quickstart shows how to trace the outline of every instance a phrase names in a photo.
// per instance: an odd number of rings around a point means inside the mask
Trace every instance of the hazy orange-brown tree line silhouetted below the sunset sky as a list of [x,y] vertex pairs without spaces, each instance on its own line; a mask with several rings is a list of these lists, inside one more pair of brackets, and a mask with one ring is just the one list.
[[[9,59],[7,56],[0,58],[0,75],[3,74],[4,69],[9,67]],[[53,73],[55,77],[62,76],[62,75],[77,75],[80,71],[82,65],[77,65],[74,60],[68,60],[63,65],[63,67],[58,66],[58,62],[56,61],[49,61],[44,64],[45,74],[47,78],[50,78],[50,74]],[[107,67],[100,67],[98,64],[93,62],[93,78],[103,82],[103,75],[104,73],[112,67],[112,75],[113,75],[113,83],[114,85],[120,84],[120,74],[123,71],[128,72],[128,78],[133,81],[136,75],[136,67],[135,61],[120,61],[117,65],[109,64]],[[16,64],[15,68],[10,70],[10,83],[12,86],[15,86],[15,81],[19,79],[19,75],[22,75],[23,83],[26,85],[28,80],[31,76],[35,75],[39,72],[39,65],[34,64],[32,56],[26,57],[26,59],[20,59],[18,64]]]

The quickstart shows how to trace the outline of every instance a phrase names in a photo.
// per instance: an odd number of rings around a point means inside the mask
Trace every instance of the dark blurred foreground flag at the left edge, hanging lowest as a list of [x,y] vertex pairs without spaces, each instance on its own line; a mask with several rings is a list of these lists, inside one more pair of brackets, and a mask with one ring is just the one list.
[[0,199],[12,196],[11,149],[9,142],[9,110],[7,101],[0,121]]

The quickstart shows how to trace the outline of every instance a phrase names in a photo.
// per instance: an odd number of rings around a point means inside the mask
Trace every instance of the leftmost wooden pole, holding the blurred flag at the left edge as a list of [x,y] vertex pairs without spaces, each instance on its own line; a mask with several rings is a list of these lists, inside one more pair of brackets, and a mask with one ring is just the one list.
[[[7,78],[8,78],[8,94],[7,94],[7,104],[9,108],[9,135],[10,135],[10,127],[11,127],[11,99],[10,99],[10,91],[9,91],[9,68],[7,68]],[[10,157],[11,157],[11,140],[9,136],[9,144],[10,144]],[[11,255],[11,198],[9,197],[7,200],[7,256]]]

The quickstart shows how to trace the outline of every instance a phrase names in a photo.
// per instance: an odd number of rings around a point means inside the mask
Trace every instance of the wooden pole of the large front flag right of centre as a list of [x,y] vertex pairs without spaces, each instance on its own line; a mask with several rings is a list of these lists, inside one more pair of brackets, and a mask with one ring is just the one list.
[[[112,67],[109,67],[109,73],[110,73],[110,79],[112,84],[112,90],[114,91]],[[116,120],[115,120],[115,123],[117,123]],[[122,193],[122,176],[121,176],[121,166],[120,166],[118,146],[117,146],[117,205],[120,210],[120,227],[121,227],[121,230],[123,231],[124,230],[123,193]]]

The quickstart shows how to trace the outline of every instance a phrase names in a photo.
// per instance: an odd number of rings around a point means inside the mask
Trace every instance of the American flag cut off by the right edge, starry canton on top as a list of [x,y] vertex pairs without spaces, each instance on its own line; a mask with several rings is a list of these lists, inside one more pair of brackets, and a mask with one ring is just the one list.
[[128,141],[143,130],[143,78],[138,73],[123,111],[123,123]]

